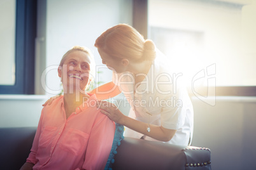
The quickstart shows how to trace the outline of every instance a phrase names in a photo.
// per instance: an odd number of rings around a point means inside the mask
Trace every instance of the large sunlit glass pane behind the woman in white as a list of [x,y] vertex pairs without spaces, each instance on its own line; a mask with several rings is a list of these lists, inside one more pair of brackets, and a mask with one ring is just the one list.
[[256,0],[148,1],[148,37],[188,86],[256,86],[255,21]]

